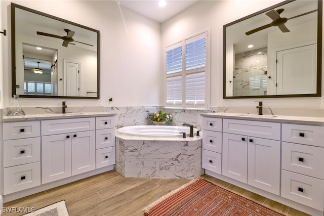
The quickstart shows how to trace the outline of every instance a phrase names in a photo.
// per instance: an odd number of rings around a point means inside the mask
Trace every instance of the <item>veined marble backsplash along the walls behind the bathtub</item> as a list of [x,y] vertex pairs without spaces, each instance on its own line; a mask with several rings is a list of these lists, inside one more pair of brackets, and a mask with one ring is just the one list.
[[162,110],[173,116],[173,122],[170,125],[182,125],[183,123],[192,124],[201,129],[203,118],[200,114],[217,112],[217,108],[210,110],[184,110],[184,109],[165,109],[163,106],[145,106],[145,107],[105,107],[104,111],[116,113],[116,128],[132,125],[149,125],[151,121],[147,120],[148,114]]

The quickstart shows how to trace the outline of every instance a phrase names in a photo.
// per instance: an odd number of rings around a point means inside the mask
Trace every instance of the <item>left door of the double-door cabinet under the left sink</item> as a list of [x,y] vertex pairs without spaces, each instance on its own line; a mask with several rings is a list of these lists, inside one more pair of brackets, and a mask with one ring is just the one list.
[[42,137],[42,184],[71,176],[71,134]]

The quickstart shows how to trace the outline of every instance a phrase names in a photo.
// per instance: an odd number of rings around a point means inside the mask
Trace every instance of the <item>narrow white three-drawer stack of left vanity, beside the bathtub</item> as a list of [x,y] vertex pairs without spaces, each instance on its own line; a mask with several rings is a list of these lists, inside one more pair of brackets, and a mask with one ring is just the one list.
[[115,118],[96,118],[96,168],[115,164]]

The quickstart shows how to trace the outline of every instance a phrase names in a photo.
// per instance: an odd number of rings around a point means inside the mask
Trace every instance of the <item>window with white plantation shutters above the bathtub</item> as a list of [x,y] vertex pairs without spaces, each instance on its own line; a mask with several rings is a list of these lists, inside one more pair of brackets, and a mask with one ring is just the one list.
[[209,108],[209,31],[166,48],[165,107]]

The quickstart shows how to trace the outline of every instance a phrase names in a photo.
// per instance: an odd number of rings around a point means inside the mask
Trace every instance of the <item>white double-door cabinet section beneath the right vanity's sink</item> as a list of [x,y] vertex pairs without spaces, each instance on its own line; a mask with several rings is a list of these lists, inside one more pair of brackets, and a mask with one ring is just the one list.
[[222,175],[280,194],[280,123],[223,119]]

